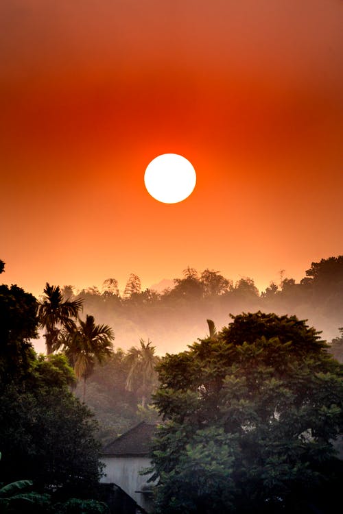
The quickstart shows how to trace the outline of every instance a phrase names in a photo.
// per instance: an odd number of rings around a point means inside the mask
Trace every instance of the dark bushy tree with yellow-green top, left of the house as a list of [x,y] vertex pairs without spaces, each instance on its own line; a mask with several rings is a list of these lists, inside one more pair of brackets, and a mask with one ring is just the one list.
[[73,380],[65,357],[51,355],[36,358],[23,380],[0,384],[0,482],[29,478],[38,491],[97,483],[97,424],[70,392]]

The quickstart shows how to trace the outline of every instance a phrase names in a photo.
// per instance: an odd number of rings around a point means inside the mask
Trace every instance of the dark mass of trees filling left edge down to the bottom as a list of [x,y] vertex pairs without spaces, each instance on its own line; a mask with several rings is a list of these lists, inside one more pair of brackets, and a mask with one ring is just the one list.
[[[70,495],[87,498],[102,470],[97,424],[70,391],[75,376],[67,359],[37,356],[33,350],[31,339],[36,337],[38,322],[37,302],[31,294],[18,286],[0,286],[0,482],[5,484],[0,506],[4,513],[52,512],[51,494],[56,491],[64,500]],[[82,501],[75,513],[84,512]],[[59,504],[55,512],[67,512],[67,506]],[[89,513],[105,512],[104,504],[94,502],[93,507]]]

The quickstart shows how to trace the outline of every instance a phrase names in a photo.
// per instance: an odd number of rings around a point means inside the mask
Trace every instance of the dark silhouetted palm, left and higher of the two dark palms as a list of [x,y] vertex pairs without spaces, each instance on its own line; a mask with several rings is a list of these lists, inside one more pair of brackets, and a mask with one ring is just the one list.
[[60,286],[45,285],[43,301],[38,306],[38,319],[41,328],[45,328],[47,355],[56,350],[60,330],[73,330],[75,321],[82,310],[82,299],[73,301],[63,299]]

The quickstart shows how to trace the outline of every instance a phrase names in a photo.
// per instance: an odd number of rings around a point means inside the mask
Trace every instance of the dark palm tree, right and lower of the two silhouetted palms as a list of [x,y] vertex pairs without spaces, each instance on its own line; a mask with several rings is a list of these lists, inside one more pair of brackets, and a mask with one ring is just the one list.
[[76,378],[84,381],[84,401],[86,379],[92,374],[96,360],[102,364],[113,354],[112,341],[115,336],[108,325],[96,325],[91,315],[86,315],[86,321],[79,319],[79,323],[73,330],[64,331],[64,339],[61,342]]

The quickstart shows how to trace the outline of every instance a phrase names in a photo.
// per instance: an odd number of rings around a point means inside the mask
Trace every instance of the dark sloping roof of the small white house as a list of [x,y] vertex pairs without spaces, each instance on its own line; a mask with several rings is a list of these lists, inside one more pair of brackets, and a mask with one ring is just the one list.
[[110,456],[147,455],[157,423],[141,421],[128,432],[105,446],[103,454]]

